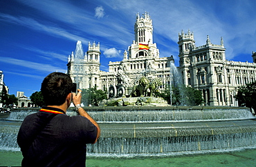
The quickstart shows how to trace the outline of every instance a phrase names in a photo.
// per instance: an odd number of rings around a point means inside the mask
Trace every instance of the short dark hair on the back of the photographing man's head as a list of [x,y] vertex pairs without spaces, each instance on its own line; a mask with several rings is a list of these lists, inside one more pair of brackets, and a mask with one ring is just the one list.
[[53,72],[42,82],[41,92],[46,106],[64,104],[66,96],[71,92],[72,79],[62,72]]

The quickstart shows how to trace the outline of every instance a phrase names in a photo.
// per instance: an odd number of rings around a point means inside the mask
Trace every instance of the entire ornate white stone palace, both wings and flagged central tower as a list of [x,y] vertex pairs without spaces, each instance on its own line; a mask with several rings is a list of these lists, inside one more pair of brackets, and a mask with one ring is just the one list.
[[[152,19],[147,12],[142,17],[137,14],[134,34],[135,40],[123,53],[122,61],[109,62],[109,72],[100,71],[100,43],[89,43],[84,53],[81,41],[77,41],[75,52],[68,56],[68,74],[80,88],[107,89],[118,84],[118,75],[124,84],[132,85],[146,75],[149,79],[161,79],[161,89],[170,86],[174,59],[159,57],[153,43]],[[178,68],[186,86],[202,91],[206,106],[238,106],[234,98],[237,88],[256,80],[256,54],[253,52],[254,63],[227,61],[222,37],[220,43],[212,44],[207,37],[205,45],[195,46],[194,33],[182,31]]]

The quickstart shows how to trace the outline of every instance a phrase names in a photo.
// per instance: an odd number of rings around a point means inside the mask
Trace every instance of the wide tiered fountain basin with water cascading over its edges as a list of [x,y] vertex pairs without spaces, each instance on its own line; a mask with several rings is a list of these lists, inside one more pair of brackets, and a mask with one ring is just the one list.
[[[256,146],[256,121],[248,108],[233,107],[85,107],[102,134],[89,144],[92,156],[172,155]],[[20,108],[0,121],[1,150],[19,150],[17,132],[26,115]],[[73,108],[67,115],[76,115]]]

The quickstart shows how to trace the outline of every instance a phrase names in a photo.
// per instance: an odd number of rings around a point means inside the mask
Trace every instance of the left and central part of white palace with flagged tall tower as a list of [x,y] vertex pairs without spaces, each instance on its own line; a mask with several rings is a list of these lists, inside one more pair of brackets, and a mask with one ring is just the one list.
[[[163,86],[170,85],[170,61],[172,57],[159,57],[156,43],[153,43],[153,25],[149,14],[137,14],[135,40],[123,53],[122,61],[109,62],[109,72],[100,71],[100,44],[89,43],[88,51],[82,54],[81,41],[77,41],[75,52],[68,57],[68,74],[80,88],[97,86],[104,90],[118,83],[117,75],[125,83],[134,84],[142,75],[149,78],[161,77]],[[80,55],[79,55],[80,53]],[[163,88],[162,86],[162,88]]]

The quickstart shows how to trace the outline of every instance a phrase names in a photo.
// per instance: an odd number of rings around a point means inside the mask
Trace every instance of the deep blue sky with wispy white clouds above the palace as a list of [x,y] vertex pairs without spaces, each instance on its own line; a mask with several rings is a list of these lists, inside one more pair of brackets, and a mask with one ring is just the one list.
[[100,42],[101,70],[122,60],[134,40],[136,13],[149,12],[154,43],[161,57],[174,55],[179,66],[178,34],[194,32],[196,46],[207,35],[214,44],[223,37],[226,59],[252,61],[256,52],[256,1],[250,0],[1,0],[0,70],[9,94],[39,91],[51,72],[66,72],[77,40]]

